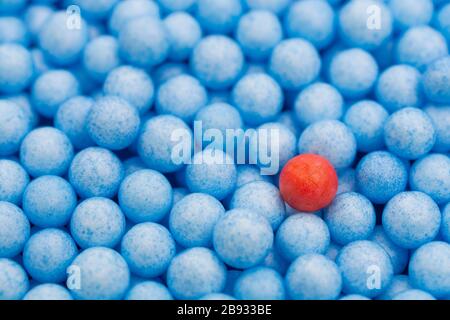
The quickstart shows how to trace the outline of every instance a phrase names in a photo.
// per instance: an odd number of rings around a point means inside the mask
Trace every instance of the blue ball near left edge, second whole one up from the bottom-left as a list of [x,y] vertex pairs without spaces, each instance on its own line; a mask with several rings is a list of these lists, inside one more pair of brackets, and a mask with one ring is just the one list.
[[66,225],[76,205],[72,186],[58,176],[34,179],[23,194],[23,211],[31,223],[41,228]]

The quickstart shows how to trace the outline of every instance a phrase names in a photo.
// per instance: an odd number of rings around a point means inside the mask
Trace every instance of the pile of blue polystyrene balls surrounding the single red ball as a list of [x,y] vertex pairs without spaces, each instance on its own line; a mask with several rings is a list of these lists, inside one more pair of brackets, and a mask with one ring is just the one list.
[[448,0],[0,0],[0,300],[450,299],[449,46]]

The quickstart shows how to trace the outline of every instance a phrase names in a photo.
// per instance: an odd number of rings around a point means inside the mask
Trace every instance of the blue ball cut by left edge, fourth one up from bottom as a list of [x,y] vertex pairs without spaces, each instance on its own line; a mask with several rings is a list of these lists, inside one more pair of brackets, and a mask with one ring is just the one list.
[[31,129],[30,119],[15,102],[0,100],[0,156],[17,152],[20,143]]

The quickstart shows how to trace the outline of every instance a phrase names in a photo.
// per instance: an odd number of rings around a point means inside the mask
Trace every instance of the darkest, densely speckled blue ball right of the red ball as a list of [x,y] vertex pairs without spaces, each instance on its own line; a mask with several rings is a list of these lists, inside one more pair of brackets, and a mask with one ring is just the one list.
[[356,189],[376,204],[386,203],[404,191],[407,183],[404,162],[386,151],[369,153],[356,167]]

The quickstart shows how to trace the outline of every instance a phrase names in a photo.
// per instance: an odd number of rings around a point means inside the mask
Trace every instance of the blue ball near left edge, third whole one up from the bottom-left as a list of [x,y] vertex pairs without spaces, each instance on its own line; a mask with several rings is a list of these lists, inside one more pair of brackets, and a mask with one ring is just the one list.
[[33,177],[64,175],[73,158],[69,138],[52,127],[34,129],[20,146],[20,162]]

